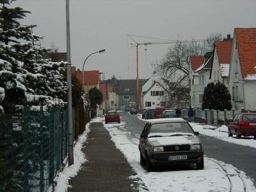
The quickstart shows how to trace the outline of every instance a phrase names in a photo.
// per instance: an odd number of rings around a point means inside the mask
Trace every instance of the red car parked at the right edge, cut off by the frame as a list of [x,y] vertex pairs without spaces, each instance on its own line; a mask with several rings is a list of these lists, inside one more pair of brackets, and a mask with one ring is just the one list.
[[236,138],[241,136],[254,136],[256,140],[256,113],[241,113],[234,116],[228,125],[228,136],[232,137],[236,134]]

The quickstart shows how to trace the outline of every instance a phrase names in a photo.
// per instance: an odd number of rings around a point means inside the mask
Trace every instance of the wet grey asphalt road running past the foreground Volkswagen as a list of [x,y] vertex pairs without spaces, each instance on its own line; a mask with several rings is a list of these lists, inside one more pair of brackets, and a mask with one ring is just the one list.
[[[131,138],[140,138],[141,131],[145,126],[145,121],[138,120],[137,115],[121,112],[121,122],[125,122],[125,129],[131,132]],[[232,164],[238,170],[246,173],[254,180],[256,186],[256,149],[243,145],[236,145],[217,138],[199,135],[204,145],[204,154],[212,159]],[[236,140],[236,138],[234,138]]]

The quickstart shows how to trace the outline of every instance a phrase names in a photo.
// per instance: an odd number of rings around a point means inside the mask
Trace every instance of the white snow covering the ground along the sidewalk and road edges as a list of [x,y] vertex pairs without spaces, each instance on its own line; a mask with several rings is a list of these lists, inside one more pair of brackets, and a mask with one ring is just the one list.
[[[141,115],[138,115],[141,119]],[[142,119],[141,119],[142,120]],[[92,122],[102,122],[104,118],[95,118]],[[91,123],[92,123],[91,122]],[[193,129],[199,131],[200,134],[214,136],[220,140],[237,143],[256,148],[256,140],[236,140],[228,138],[227,127],[221,126],[218,129],[213,129],[211,125],[202,125],[190,123]],[[231,164],[226,164],[216,159],[205,157],[204,170],[196,170],[193,168],[185,170],[175,170],[168,172],[150,172],[148,173],[140,164],[140,152],[138,150],[139,140],[134,138],[128,139],[131,132],[125,131],[125,123],[121,124],[104,124],[104,127],[109,131],[116,148],[118,148],[127,161],[131,164],[136,175],[131,175],[131,178],[140,178],[140,191],[144,189],[144,184],[148,191],[255,191],[253,181],[240,170],[237,170]],[[90,124],[86,125],[86,131],[79,136],[79,140],[74,147],[74,165],[66,165],[63,172],[56,177],[57,186],[54,191],[63,192],[68,188],[68,179],[77,175],[82,163],[86,161],[86,157],[81,152],[81,147],[88,132]],[[133,184],[131,183],[131,186]],[[52,189],[49,189],[51,191]]]

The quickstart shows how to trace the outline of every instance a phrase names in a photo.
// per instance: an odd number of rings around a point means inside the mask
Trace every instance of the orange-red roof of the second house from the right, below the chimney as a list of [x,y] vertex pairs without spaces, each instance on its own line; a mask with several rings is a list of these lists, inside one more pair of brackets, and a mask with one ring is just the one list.
[[232,41],[215,41],[215,48],[218,54],[218,61],[220,64],[229,64],[232,51]]

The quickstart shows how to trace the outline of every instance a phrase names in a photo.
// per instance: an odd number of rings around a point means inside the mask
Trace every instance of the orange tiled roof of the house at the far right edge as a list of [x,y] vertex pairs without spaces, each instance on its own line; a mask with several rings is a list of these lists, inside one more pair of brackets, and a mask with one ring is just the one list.
[[237,52],[242,77],[256,74],[256,28],[235,28]]

